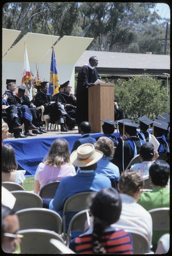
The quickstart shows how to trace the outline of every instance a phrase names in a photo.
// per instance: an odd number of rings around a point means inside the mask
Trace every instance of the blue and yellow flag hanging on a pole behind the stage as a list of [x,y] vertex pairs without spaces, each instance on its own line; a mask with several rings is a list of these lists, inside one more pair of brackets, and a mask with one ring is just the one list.
[[50,68],[50,79],[49,79],[49,93],[52,95],[58,93],[58,73],[56,65],[56,57],[54,54],[54,46],[52,46],[52,57],[51,57],[51,68]]

